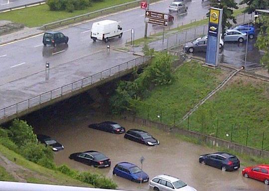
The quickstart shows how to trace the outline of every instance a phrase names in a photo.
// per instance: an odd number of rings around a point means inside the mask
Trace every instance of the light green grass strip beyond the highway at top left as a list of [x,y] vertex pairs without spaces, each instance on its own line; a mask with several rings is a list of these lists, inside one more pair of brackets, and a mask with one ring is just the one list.
[[35,27],[132,1],[134,0],[104,0],[102,2],[93,3],[93,5],[87,9],[75,10],[74,12],[51,11],[47,4],[42,4],[0,13],[0,20],[11,20],[16,23],[22,23],[28,27]]

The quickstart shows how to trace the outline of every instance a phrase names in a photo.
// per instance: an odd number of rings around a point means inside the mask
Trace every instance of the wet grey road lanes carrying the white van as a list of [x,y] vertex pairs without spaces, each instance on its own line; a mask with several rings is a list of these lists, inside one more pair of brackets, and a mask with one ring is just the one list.
[[[168,5],[172,0],[163,0],[158,3],[150,5],[151,10],[168,12]],[[178,24],[187,24],[191,20],[202,19],[209,6],[201,3],[199,0],[192,1],[187,4],[187,13],[172,13],[175,16],[174,22],[170,27],[175,27]],[[123,27],[124,35],[122,39],[113,39],[110,41],[112,47],[123,44],[131,38],[131,29],[134,28],[135,38],[143,37],[144,35],[144,10],[140,8],[133,8],[131,10],[114,13],[102,18],[93,19],[77,23],[71,27],[61,29],[65,35],[69,36],[68,49],[63,47],[62,50],[52,47],[43,47],[42,34],[28,39],[20,40],[14,43],[0,46],[0,63],[1,73],[0,84],[19,79],[30,74],[36,73],[44,69],[46,61],[50,62],[52,66],[65,64],[70,61],[75,61],[80,58],[91,56],[100,51],[105,51],[106,44],[103,42],[96,42],[90,39],[90,29],[92,23],[99,20],[111,19],[120,22]],[[162,27],[149,25],[149,32],[160,32]],[[53,54],[52,54],[53,53]],[[92,64],[91,59],[87,61]],[[119,64],[119,60],[113,61],[115,65]],[[92,68],[92,72],[97,70]]]

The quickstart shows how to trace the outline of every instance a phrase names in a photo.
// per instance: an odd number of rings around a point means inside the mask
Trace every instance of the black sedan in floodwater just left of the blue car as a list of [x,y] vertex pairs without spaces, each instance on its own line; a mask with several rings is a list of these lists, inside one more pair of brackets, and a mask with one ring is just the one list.
[[73,153],[69,158],[98,168],[110,167],[111,165],[111,161],[106,155],[94,150]]

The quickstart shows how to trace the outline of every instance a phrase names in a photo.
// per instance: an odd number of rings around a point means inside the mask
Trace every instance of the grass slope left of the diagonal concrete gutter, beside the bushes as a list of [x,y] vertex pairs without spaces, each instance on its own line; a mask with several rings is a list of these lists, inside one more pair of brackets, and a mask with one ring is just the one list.
[[185,63],[174,72],[173,84],[154,88],[142,102],[134,105],[137,114],[167,125],[173,125],[174,120],[178,124],[199,100],[220,83],[216,76],[221,72],[196,62]]

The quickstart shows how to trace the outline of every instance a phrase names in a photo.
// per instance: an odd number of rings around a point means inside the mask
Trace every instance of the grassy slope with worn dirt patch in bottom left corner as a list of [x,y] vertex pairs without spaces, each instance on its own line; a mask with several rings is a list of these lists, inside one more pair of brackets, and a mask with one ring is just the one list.
[[[59,171],[50,170],[39,166],[33,162],[30,162],[23,158],[21,155],[7,149],[0,144],[0,153],[4,155],[11,163],[22,167],[15,173],[28,183],[39,184],[53,184],[53,185],[68,185],[68,186],[80,186],[80,187],[93,187],[90,184],[80,182],[72,179],[67,175],[60,173]],[[18,181],[12,175],[10,175],[4,168],[0,166],[0,180],[2,181]]]

